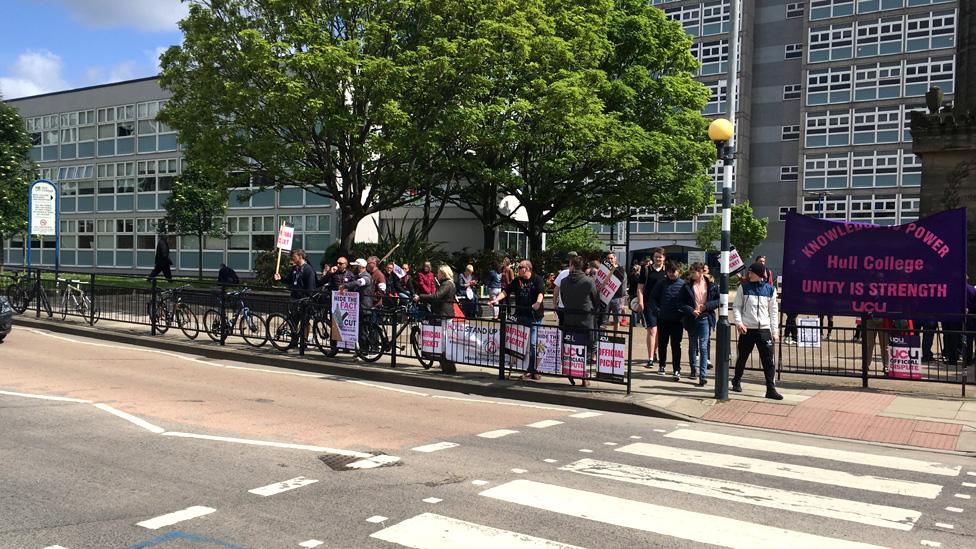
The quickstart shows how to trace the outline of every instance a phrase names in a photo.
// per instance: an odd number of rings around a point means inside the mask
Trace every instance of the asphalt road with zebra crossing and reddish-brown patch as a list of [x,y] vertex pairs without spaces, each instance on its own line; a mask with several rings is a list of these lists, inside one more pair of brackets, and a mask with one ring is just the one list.
[[3,549],[976,546],[971,458],[27,329],[0,433]]

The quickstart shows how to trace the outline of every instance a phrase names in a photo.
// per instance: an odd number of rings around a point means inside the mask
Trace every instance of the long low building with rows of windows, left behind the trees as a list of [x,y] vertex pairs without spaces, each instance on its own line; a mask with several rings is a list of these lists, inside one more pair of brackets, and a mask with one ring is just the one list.
[[[31,157],[61,187],[61,265],[131,272],[151,269],[157,227],[173,179],[183,169],[176,133],[156,121],[169,97],[144,78],[11,100],[27,121]],[[298,188],[230,193],[227,239],[205,238],[203,267],[243,273],[274,247],[282,221],[295,225],[295,247],[321,257],[337,238],[332,201]],[[196,272],[201,243],[170,237],[177,271]],[[54,241],[34,239],[32,262],[54,264]],[[5,246],[6,263],[24,261],[24,242]]]

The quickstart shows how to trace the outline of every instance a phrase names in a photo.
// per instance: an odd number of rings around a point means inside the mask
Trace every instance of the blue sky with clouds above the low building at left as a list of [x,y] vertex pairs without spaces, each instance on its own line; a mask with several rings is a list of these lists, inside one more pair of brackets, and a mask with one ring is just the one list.
[[154,76],[186,13],[180,0],[0,0],[0,94]]

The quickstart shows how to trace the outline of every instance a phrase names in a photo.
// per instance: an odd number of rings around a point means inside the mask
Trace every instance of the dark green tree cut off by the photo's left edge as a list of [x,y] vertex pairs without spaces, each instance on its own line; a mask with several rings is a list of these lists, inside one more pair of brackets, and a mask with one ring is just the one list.
[[36,175],[30,148],[24,119],[0,98],[0,263],[4,240],[27,231],[27,191]]

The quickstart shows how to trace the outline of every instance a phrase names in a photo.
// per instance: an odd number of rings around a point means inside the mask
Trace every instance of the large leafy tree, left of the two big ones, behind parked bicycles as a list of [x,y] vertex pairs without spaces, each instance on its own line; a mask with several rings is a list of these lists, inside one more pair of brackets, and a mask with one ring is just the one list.
[[334,200],[348,253],[362,218],[455,178],[449,106],[473,74],[458,60],[473,57],[435,39],[448,9],[432,0],[194,2],[183,44],[162,56],[160,82],[173,97],[160,119],[207,173],[243,172],[258,188],[295,185]]

